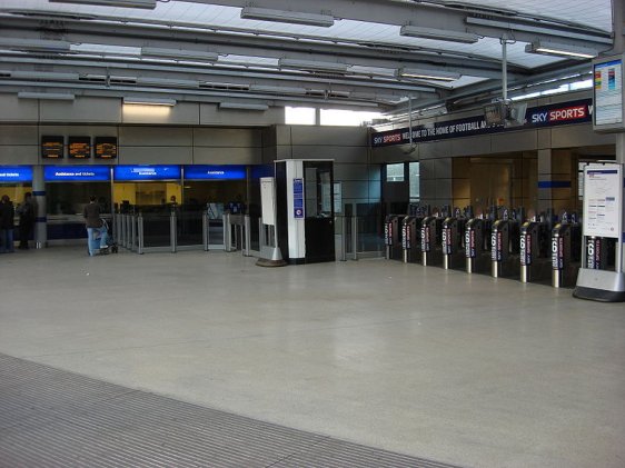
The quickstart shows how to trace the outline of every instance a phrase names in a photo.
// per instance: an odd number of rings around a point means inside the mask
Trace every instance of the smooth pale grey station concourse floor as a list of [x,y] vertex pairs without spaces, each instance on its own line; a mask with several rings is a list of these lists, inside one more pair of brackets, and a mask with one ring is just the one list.
[[625,466],[623,303],[381,259],[255,262],[2,255],[0,354],[442,465]]

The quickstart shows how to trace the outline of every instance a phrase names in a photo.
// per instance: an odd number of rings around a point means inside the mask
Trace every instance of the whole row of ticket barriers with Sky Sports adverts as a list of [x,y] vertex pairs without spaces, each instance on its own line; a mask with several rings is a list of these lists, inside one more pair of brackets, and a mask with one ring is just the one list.
[[[486,213],[474,216],[472,207],[444,207],[431,215],[429,207],[420,206],[411,215],[386,217],[386,258],[572,287],[583,257],[578,221],[567,213],[526,219],[523,208],[490,207]],[[584,268],[607,269],[614,242],[586,238],[586,243]]]

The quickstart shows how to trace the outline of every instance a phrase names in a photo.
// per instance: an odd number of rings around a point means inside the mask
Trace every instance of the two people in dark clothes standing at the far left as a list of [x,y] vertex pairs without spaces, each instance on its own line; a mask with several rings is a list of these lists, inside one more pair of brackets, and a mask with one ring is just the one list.
[[32,193],[26,192],[23,201],[16,209],[8,195],[0,198],[0,253],[12,253],[14,251],[14,218],[19,216],[18,236],[19,249],[29,248],[28,241],[32,236],[36,209]]

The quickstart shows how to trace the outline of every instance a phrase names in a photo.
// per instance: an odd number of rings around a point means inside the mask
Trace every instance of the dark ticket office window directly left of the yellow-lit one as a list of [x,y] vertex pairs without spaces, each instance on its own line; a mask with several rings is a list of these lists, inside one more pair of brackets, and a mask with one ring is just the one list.
[[51,216],[82,216],[90,197],[96,197],[102,213],[111,212],[110,182],[48,182],[46,185],[47,212]]

